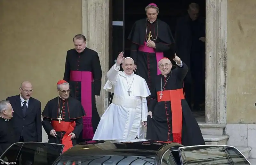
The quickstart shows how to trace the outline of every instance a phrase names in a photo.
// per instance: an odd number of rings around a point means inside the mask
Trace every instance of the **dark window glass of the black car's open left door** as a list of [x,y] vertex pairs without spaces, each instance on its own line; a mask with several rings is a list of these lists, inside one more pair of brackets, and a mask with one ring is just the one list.
[[61,154],[63,145],[40,142],[19,142],[10,146],[0,159],[36,165],[51,165]]

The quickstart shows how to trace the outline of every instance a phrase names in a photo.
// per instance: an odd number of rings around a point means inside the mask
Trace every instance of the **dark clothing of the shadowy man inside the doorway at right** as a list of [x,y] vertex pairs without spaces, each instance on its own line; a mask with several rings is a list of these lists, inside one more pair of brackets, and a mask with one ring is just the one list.
[[[184,79],[184,88],[190,108],[192,108],[191,99],[194,98],[193,109],[200,109],[200,105],[205,102],[205,42],[199,40],[200,37],[205,37],[205,18],[199,16],[196,20],[192,20],[186,15],[178,19],[175,50],[188,64],[189,71]],[[194,97],[191,89],[194,94],[196,93]]]

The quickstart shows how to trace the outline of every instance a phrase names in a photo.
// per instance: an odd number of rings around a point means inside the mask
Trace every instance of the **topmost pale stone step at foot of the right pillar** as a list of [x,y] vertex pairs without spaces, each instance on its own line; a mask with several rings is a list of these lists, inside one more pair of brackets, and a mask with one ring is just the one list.
[[198,122],[203,135],[224,135],[226,124],[210,124]]

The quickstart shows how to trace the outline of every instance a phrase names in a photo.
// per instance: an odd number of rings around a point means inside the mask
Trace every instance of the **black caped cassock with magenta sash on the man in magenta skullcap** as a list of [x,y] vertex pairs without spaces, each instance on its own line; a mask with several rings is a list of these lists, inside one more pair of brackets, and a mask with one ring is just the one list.
[[[146,30],[147,27],[147,30]],[[156,48],[146,46],[147,36],[151,32],[151,41],[154,41]],[[172,32],[169,26],[157,19],[152,24],[147,18],[140,19],[132,26],[132,31],[128,37],[131,40],[131,58],[137,65],[136,74],[144,78],[149,89],[153,86],[153,79],[160,74],[158,71],[158,61],[163,58],[164,51],[170,49],[174,43]]]

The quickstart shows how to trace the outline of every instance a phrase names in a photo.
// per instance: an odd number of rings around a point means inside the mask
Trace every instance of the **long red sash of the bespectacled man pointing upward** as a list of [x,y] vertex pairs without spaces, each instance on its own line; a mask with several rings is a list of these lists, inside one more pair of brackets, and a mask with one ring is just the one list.
[[[160,91],[157,92],[157,101],[171,101],[172,109],[172,136],[173,142],[181,144],[181,130],[182,130],[182,106],[181,100],[185,99],[183,89],[166,90],[163,91],[160,99]],[[168,116],[167,116],[168,118]],[[169,126],[169,124],[168,124]],[[170,128],[169,128],[170,130]],[[168,132],[169,137],[169,132]],[[169,138],[168,138],[169,141]]]

